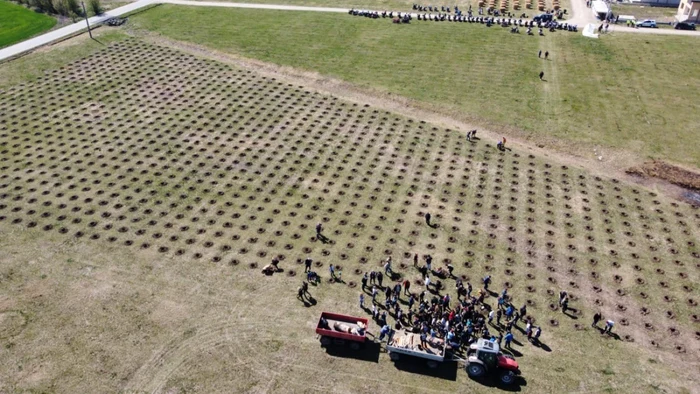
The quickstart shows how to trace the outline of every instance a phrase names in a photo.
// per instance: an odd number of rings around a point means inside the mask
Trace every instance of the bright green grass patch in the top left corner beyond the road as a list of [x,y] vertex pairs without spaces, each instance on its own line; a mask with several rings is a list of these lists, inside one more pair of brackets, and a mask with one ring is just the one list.
[[0,0],[0,48],[49,30],[55,24],[55,18]]

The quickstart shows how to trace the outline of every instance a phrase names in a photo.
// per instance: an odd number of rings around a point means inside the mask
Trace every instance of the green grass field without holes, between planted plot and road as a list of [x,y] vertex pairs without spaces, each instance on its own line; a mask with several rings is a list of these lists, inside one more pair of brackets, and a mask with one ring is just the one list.
[[[409,97],[589,157],[593,147],[612,147],[700,166],[700,151],[688,143],[700,128],[700,54],[687,50],[695,37],[539,38],[483,25],[176,6],[133,20],[173,39]],[[550,61],[537,59],[540,49]]]

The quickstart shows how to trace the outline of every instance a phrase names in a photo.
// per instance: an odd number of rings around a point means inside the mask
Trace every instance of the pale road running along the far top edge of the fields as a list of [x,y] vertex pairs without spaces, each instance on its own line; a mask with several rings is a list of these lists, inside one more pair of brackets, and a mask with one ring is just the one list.
[[[573,17],[567,22],[572,24],[577,24],[579,28],[583,28],[586,23],[600,23],[595,21],[595,18],[591,14],[591,11],[586,7],[586,0],[572,0],[572,13]],[[280,10],[280,11],[316,11],[316,12],[338,12],[347,13],[347,8],[335,8],[335,7],[303,7],[303,6],[292,6],[292,5],[274,5],[274,4],[255,4],[255,3],[229,3],[229,2],[218,2],[218,1],[192,1],[192,0],[138,0],[134,3],[127,4],[123,7],[115,8],[113,10],[107,11],[104,15],[94,16],[89,19],[90,26],[96,26],[109,18],[114,18],[129,14],[136,10],[144,7],[148,7],[153,4],[176,4],[182,6],[195,6],[195,7],[228,7],[228,8],[254,8],[254,9],[264,9],[264,10]],[[416,14],[412,14],[414,17]],[[416,21],[417,23],[420,23]],[[29,52],[41,46],[50,44],[55,41],[59,41],[66,37],[70,37],[77,34],[87,28],[85,21],[80,21],[60,29],[56,29],[52,32],[42,34],[38,37],[31,38],[26,41],[22,41],[18,44],[9,46],[4,49],[0,49],[0,62],[13,58],[15,56],[21,55],[25,52]],[[648,33],[648,34],[670,34],[670,35],[694,35],[700,37],[700,32],[694,31],[682,31],[673,29],[634,29],[624,26],[614,26],[611,25],[612,31],[625,32],[625,33]]]

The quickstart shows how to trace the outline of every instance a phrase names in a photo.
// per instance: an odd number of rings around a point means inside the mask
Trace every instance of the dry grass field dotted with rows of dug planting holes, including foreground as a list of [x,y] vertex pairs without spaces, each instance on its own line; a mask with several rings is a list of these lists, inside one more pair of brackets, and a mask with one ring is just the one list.
[[320,312],[366,315],[350,283],[387,254],[422,290],[413,253],[528,303],[547,347],[515,331],[522,392],[697,386],[697,209],[139,40],[56,67],[0,92],[0,391],[501,392],[319,346]]

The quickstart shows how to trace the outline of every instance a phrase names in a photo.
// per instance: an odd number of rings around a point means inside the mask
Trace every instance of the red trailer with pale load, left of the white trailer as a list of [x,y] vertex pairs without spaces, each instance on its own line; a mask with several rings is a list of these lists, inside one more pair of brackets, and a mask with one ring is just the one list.
[[316,334],[321,338],[321,345],[344,345],[359,349],[367,340],[368,320],[364,317],[322,312],[316,324]]

